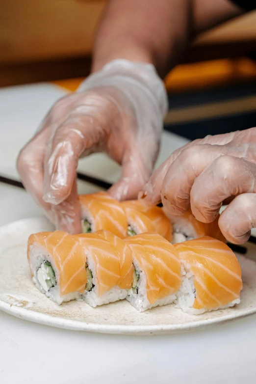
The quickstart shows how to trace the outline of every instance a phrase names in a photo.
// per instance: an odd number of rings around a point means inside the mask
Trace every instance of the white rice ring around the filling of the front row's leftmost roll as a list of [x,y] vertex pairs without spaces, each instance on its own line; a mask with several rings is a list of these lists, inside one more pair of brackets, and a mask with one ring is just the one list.
[[[81,297],[80,292],[71,292],[67,295],[61,295],[59,288],[59,273],[52,256],[49,254],[46,248],[36,243],[31,245],[29,248],[29,261],[33,282],[35,283],[36,287],[53,302],[61,304],[62,302],[69,302],[70,300],[79,299]],[[48,291],[43,288],[42,284],[40,284],[38,280],[38,270],[44,261],[49,261],[51,263],[51,267],[54,271],[56,279],[56,285],[51,287]]]

